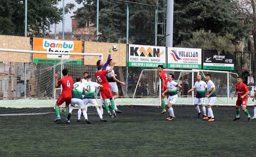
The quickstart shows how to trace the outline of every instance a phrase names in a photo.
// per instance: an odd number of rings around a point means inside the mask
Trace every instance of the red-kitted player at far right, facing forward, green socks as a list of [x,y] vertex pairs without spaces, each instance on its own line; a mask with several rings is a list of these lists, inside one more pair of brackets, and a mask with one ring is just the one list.
[[236,117],[233,120],[240,119],[239,113],[240,113],[240,106],[242,105],[242,110],[248,116],[248,121],[250,122],[251,116],[249,114],[249,111],[246,109],[249,90],[247,88],[247,85],[243,83],[242,77],[237,78],[236,91],[234,92],[232,99],[237,93],[238,93],[238,97],[236,100]]

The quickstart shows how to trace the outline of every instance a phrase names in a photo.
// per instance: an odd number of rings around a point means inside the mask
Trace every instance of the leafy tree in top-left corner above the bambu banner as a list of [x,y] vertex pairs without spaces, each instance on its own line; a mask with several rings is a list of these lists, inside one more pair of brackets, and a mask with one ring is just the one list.
[[[50,26],[62,20],[62,8],[56,5],[60,0],[27,0],[27,34],[43,37],[50,33]],[[68,13],[75,7],[66,4]],[[25,5],[24,0],[0,0],[0,34],[24,36]]]

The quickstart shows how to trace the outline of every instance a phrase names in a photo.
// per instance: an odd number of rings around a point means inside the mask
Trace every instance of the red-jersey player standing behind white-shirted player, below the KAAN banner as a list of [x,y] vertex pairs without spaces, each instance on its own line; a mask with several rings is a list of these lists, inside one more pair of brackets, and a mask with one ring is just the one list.
[[[161,79],[161,93],[163,93],[167,89],[167,82],[168,80],[168,75],[163,71],[164,66],[163,65],[158,65],[157,70],[159,71],[159,78]],[[169,97],[169,93],[166,92],[165,95],[167,98]],[[161,94],[161,106],[162,106],[162,112],[161,114],[164,114],[166,112],[165,110],[165,96]]]

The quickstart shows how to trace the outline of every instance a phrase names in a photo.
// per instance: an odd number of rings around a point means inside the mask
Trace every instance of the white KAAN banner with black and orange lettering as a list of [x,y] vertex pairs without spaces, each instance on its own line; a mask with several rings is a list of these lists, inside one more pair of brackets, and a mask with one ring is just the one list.
[[166,68],[165,47],[129,44],[129,66],[156,68],[159,64]]

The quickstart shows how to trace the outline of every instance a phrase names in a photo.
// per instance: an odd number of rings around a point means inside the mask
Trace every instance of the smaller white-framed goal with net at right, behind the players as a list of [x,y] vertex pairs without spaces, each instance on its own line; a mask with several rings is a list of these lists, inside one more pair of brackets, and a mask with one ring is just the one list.
[[[236,79],[238,75],[236,73],[230,73],[227,71],[213,71],[213,70],[179,70],[179,69],[164,69],[169,74],[174,74],[174,81],[182,86],[178,91],[179,98],[176,104],[179,105],[193,105],[195,92],[187,93],[189,89],[194,87],[194,83],[197,81],[196,76],[202,75],[202,80],[206,82],[205,75],[210,74],[211,80],[216,86],[217,99],[215,105],[227,105],[234,106],[236,100],[232,100],[231,97],[235,91]],[[146,105],[146,106],[161,106],[161,80],[159,79],[159,72],[157,69],[144,69],[137,82],[135,92],[133,93],[131,105]],[[167,98],[165,98],[165,103]],[[207,99],[208,100],[208,99]],[[208,101],[205,102],[206,104]],[[252,104],[248,100],[248,104]]]

